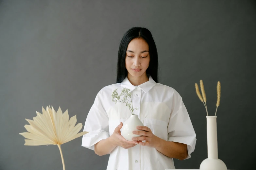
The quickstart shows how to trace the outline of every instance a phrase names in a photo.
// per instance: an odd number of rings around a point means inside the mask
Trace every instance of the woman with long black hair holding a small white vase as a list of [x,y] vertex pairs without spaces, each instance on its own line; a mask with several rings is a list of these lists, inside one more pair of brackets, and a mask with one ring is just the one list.
[[[112,92],[131,91],[137,127],[133,141],[120,129],[131,115],[123,103],[112,102]],[[98,92],[85,121],[82,146],[99,156],[110,154],[107,170],[175,169],[173,158],[191,157],[196,134],[182,98],[158,83],[158,54],[149,30],[133,27],[123,36],[117,64],[117,82]]]

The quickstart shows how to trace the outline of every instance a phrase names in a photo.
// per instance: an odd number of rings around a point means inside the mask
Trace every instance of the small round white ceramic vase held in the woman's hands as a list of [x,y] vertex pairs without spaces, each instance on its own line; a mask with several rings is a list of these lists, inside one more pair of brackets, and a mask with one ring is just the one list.
[[132,141],[133,137],[140,137],[141,135],[133,134],[132,131],[141,131],[138,130],[137,126],[144,126],[141,120],[138,118],[138,115],[131,115],[123,124],[121,129],[122,136],[128,141]]

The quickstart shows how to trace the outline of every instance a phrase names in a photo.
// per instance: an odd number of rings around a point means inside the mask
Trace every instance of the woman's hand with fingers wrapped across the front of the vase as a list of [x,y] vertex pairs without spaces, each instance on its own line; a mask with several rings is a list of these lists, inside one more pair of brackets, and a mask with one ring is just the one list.
[[[159,143],[159,137],[154,135],[152,131],[146,127],[146,126],[137,126],[138,130],[143,130],[143,131],[133,131],[133,134],[136,135],[142,135],[141,137],[133,137],[132,140],[138,141],[140,145],[142,146],[149,146],[152,148],[156,148],[157,144]],[[146,142],[142,142],[142,141]]]

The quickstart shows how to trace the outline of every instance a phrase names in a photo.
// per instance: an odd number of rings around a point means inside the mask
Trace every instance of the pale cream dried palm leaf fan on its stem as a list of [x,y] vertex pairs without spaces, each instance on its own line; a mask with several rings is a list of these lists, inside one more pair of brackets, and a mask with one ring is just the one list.
[[[82,123],[77,122],[77,115],[73,116],[69,120],[68,110],[63,114],[59,107],[56,112],[54,108],[50,106],[43,108],[43,114],[36,111],[37,116],[33,120],[28,120],[30,125],[25,125],[27,132],[20,133],[25,138],[25,144],[27,146],[39,146],[39,145],[57,145],[60,149],[60,156],[65,170],[64,159],[60,145],[67,143],[77,137],[87,134],[88,132],[80,132]],[[76,125],[76,126],[75,126]]]

